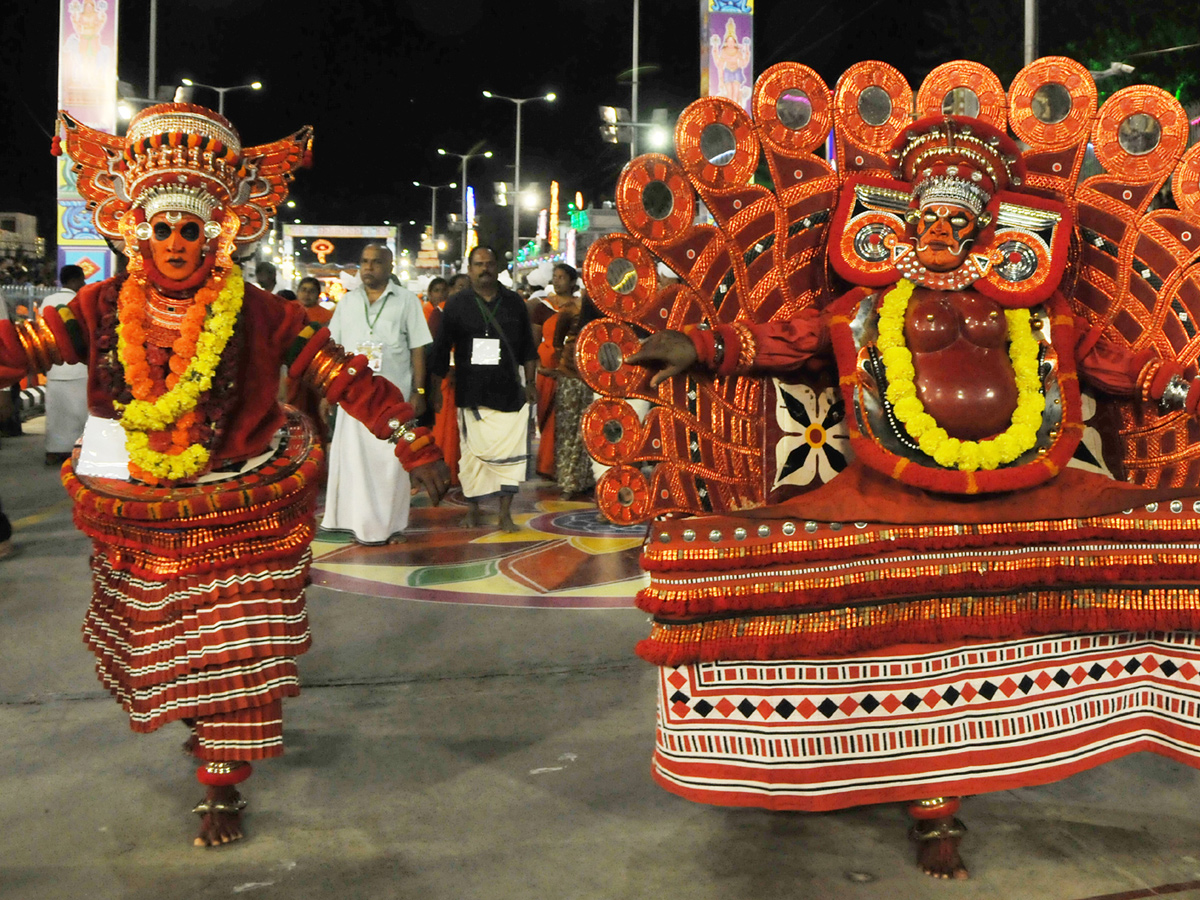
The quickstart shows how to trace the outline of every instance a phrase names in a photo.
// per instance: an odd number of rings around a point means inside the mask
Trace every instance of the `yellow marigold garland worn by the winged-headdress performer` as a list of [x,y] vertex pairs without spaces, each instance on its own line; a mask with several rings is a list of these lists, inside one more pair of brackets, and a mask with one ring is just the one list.
[[[144,282],[138,284],[128,278],[121,288],[120,307],[143,308],[133,302],[132,292],[145,290]],[[126,298],[130,292],[130,298]],[[245,282],[241,270],[233,266],[224,278],[224,284],[204,317],[204,325],[196,342],[196,353],[187,367],[179,376],[178,383],[160,395],[156,400],[134,400],[127,404],[113,403],[125,428],[125,448],[130,462],[158,479],[178,481],[203,472],[209,462],[209,450],[202,444],[190,444],[179,452],[160,452],[151,449],[148,432],[160,432],[172,428],[181,418],[188,416],[196,409],[200,395],[212,386],[212,376],[221,362],[221,354],[233,337],[234,323],[241,312]],[[130,302],[125,302],[130,300]],[[131,323],[133,324],[133,323]],[[140,323],[137,323],[140,328]],[[126,329],[118,328],[118,354],[121,365],[128,370],[131,344],[126,341]]]

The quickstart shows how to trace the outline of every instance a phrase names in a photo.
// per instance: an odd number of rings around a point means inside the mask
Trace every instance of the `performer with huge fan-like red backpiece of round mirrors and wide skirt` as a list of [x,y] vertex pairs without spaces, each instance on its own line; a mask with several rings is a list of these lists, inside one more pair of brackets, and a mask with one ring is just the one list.
[[[607,395],[584,419],[613,466],[598,498],[653,518],[659,784],[911,802],[922,868],[965,877],[962,794],[1138,750],[1200,767],[1187,127],[1157,88],[1097,110],[1061,58],[1007,96],[946,64],[916,98],[882,62],[832,94],[782,64],[752,119],[698,101],[678,163],[629,164],[629,233],[584,265],[608,318],[576,358]],[[814,155],[830,130],[836,167]],[[750,184],[762,157],[773,187]]]

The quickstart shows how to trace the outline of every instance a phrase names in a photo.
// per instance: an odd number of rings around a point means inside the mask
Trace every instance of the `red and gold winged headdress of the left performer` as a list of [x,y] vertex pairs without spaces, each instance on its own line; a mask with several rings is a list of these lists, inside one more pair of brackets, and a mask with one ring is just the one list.
[[[131,214],[144,223],[172,210],[205,220],[209,239],[233,214],[233,241],[252,244],[266,232],[295,169],[307,164],[312,152],[311,127],[242,149],[228,119],[191,103],[143,109],[124,138],[90,128],[66,112],[59,113],[59,130],[97,230],[116,240],[125,238],[130,226],[122,229],[122,221]],[[58,139],[54,146],[58,150]]]

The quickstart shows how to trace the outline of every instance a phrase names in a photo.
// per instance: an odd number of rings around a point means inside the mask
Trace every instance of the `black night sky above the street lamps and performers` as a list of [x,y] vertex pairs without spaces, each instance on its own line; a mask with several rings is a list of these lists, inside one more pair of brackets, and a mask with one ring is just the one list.
[[[641,5],[641,107],[644,115],[665,107],[673,116],[698,95],[700,4]],[[48,238],[58,6],[55,0],[6,5],[0,53],[7,115],[0,209],[37,215]],[[919,13],[913,4],[884,0],[758,0],[755,72],[797,60],[832,88],[851,62],[882,59],[916,89],[935,65],[971,58],[991,65],[1007,84],[1021,65],[1021,6],[942,0]],[[1102,56],[1200,40],[1192,0],[1108,2],[1103,10],[1076,0],[1042,6],[1043,55]],[[412,181],[457,181],[458,160],[438,156],[437,148],[466,152],[482,144],[494,156],[470,162],[481,236],[506,247],[510,214],[485,200],[491,182],[511,180],[515,113],[511,103],[485,100],[481,90],[517,97],[556,91],[558,102],[524,107],[522,182],[538,181],[548,191],[558,179],[564,198],[576,191],[588,202],[611,197],[629,148],[600,140],[596,107],[629,106],[631,12],[632,0],[158,0],[158,80],[260,79],[263,91],[229,94],[226,101],[245,144],[313,125],[316,168],[301,172],[293,191],[304,222],[415,218],[424,226],[430,192]],[[1139,26],[1138,17],[1150,18]],[[120,0],[120,79],[138,94],[146,86],[148,31],[149,1]],[[1115,34],[1127,42],[1117,49],[1105,46]],[[1142,71],[1162,59],[1142,60]],[[1200,53],[1171,56],[1174,64],[1184,59],[1200,71]],[[199,91],[196,101],[216,107],[210,91]],[[457,192],[439,192],[439,218],[457,204]],[[524,233],[533,228],[529,216]],[[404,229],[402,242],[415,246],[415,232]]]

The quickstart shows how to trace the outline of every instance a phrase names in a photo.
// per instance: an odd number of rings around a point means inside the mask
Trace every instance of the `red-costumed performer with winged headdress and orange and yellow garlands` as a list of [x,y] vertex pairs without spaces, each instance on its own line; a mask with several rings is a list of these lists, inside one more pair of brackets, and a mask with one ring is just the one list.
[[280,366],[392,440],[434,502],[448,473],[365,356],[232,262],[287,198],[311,130],[242,148],[223,116],[168,103],[140,112],[124,138],[66,113],[60,131],[128,271],[43,319],[0,323],[0,385],[88,364],[92,421],[62,469],[95,546],[84,638],[134,731],[192,728],[185,746],[208,787],[196,844],[223,844],[241,838],[235,785],[250,761],[283,752],[281,702],[299,692],[295,658],[310,646],[323,456],[308,420],[276,402]]

